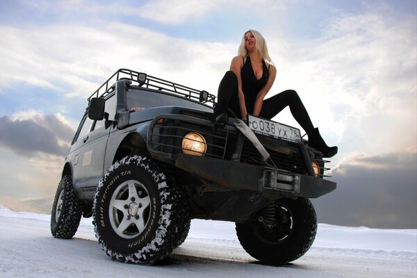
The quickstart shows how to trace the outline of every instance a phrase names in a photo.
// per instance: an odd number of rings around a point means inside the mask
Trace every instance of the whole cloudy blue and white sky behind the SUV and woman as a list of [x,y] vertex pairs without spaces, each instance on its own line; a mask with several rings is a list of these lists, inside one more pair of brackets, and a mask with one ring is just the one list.
[[[416,0],[1,0],[0,204],[43,209],[86,98],[126,67],[217,94],[248,29],[300,94],[338,189],[320,222],[417,228]],[[288,109],[274,120],[293,124]],[[48,208],[49,209],[49,208]]]

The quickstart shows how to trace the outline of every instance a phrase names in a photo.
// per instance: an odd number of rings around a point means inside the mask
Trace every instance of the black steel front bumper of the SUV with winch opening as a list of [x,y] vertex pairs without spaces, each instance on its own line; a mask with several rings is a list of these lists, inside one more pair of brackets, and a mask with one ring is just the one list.
[[231,190],[317,198],[336,189],[336,183],[326,179],[216,158],[178,154],[175,165]]

